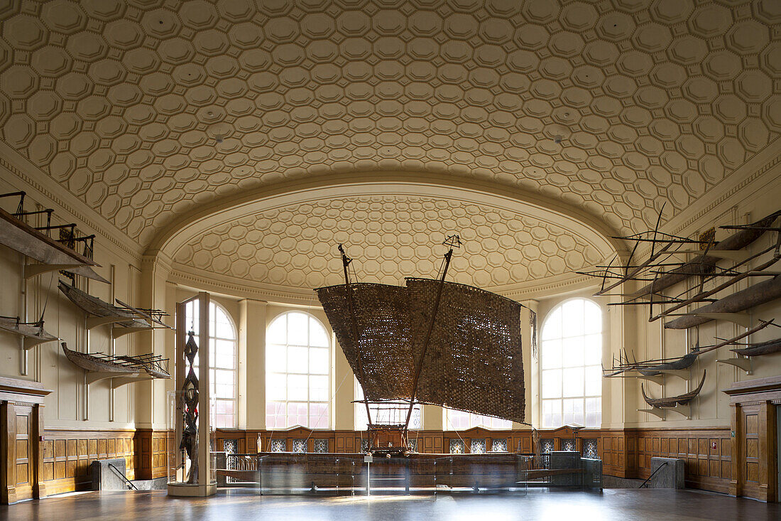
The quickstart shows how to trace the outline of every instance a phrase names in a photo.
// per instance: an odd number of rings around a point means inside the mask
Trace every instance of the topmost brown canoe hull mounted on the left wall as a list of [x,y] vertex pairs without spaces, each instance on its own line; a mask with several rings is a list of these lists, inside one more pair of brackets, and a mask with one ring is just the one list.
[[[23,192],[17,193],[23,194]],[[94,266],[99,266],[94,260],[52,239],[2,208],[0,208],[0,243],[43,264],[61,266],[60,269],[71,273],[109,283],[92,269]]]

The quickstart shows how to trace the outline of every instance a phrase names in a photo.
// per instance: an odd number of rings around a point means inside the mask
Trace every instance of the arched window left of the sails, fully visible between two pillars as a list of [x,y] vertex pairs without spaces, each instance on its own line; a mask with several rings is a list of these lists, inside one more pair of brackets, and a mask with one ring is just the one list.
[[266,428],[327,429],[330,341],[301,311],[276,317],[266,332]]

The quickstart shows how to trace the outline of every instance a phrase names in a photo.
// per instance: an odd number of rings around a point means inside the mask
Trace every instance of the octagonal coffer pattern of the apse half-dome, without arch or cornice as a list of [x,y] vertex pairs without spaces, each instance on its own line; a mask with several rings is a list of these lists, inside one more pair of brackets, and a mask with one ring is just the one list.
[[412,196],[348,197],[266,210],[193,237],[174,260],[199,271],[312,289],[344,282],[337,244],[360,282],[434,277],[453,233],[449,280],[512,286],[595,264],[604,253],[558,225],[487,206]]

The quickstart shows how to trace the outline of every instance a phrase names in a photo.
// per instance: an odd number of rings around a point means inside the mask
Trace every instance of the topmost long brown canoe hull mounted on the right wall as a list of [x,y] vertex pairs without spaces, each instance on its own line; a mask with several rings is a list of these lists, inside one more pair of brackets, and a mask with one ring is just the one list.
[[[758,226],[761,228],[740,228],[738,232],[733,233],[726,239],[719,241],[713,245],[713,250],[741,250],[757,240],[766,231],[766,227],[772,225],[773,221],[781,215],[781,212],[775,212],[769,216],[761,219],[751,226]],[[724,227],[722,227],[724,228]],[[682,282],[692,275],[708,275],[713,270],[716,263],[719,261],[719,257],[708,256],[707,253],[703,253],[699,257],[690,260],[686,264],[683,264],[680,268],[676,268],[665,275],[662,275],[651,284],[644,286],[637,290],[636,296],[647,295],[647,293],[659,293],[664,289],[674,286],[678,282]]]

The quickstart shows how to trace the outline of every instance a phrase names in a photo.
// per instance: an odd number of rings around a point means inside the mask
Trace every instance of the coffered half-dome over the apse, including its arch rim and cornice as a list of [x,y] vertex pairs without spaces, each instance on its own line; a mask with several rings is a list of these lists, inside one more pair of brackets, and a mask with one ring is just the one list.
[[522,199],[484,183],[446,184],[403,172],[367,174],[362,182],[316,181],[248,194],[222,210],[205,208],[162,235],[154,252],[201,280],[216,275],[312,298],[312,288],[343,281],[338,243],[355,259],[357,280],[396,284],[407,276],[433,277],[441,241],[457,233],[465,244],[449,278],[505,294],[552,278],[572,280],[572,271],[621,246],[587,214],[557,212],[540,205],[544,198]]

